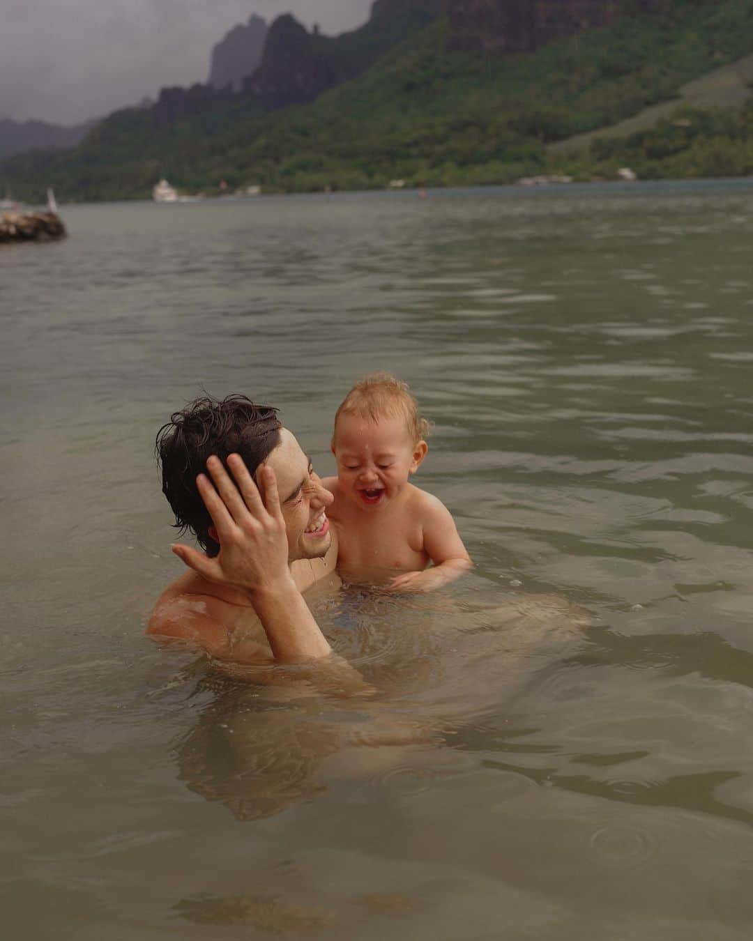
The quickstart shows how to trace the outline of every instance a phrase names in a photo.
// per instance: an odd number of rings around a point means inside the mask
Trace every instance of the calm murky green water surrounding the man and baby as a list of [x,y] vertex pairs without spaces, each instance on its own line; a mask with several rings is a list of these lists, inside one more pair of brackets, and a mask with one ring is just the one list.
[[[753,185],[63,215],[0,251],[3,936],[747,939]],[[376,696],[146,640],[169,413],[330,472],[373,369],[476,563],[312,598]]]

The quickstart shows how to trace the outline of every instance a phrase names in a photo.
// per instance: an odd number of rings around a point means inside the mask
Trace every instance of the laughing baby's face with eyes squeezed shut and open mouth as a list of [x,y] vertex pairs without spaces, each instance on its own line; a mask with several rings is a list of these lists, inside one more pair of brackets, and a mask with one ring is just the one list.
[[332,453],[344,495],[373,512],[393,502],[426,454],[426,442],[412,440],[402,417],[373,422],[341,415],[335,425]]

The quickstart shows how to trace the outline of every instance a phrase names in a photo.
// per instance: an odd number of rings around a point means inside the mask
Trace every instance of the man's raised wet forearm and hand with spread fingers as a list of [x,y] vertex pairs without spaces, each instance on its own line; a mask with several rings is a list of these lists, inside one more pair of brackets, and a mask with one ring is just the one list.
[[239,455],[230,455],[228,466],[234,483],[217,457],[207,461],[212,480],[205,474],[197,477],[201,499],[215,524],[219,553],[209,558],[183,545],[173,546],[173,552],[202,578],[232,585],[244,593],[262,623],[276,661],[328,657],[331,648],[288,566],[274,471],[264,465],[258,471],[263,500]]

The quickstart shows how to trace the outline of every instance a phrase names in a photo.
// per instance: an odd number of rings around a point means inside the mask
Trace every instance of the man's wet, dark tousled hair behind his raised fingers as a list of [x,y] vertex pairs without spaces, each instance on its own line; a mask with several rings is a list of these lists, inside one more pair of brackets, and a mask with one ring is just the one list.
[[190,530],[207,555],[215,556],[219,543],[209,534],[212,518],[196,486],[197,475],[207,472],[211,455],[227,466],[233,454],[241,455],[253,475],[280,444],[281,427],[277,408],[257,405],[245,395],[205,395],[174,412],[157,432],[162,492],[175,514],[174,526],[181,534]]

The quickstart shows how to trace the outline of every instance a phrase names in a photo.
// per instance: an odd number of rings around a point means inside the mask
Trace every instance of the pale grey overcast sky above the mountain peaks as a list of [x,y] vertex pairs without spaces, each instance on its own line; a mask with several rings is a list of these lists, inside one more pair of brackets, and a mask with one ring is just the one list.
[[293,13],[330,35],[372,0],[0,0],[0,118],[72,124],[205,82],[212,46],[251,13]]

